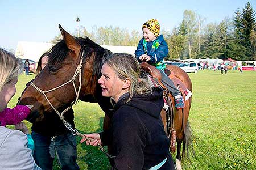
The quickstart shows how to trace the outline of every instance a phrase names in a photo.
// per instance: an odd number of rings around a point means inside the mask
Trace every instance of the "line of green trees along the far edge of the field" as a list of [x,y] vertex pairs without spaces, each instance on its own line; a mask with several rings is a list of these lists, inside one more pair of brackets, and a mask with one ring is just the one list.
[[[233,18],[224,18],[220,23],[205,24],[205,18],[192,10],[183,12],[183,20],[172,29],[162,30],[169,46],[166,59],[187,58],[232,58],[256,60],[256,19],[251,4],[237,9]],[[79,33],[78,33],[79,31]],[[80,26],[73,35],[87,36],[101,45],[137,46],[141,31],[129,32],[126,28],[96,27],[88,32]],[[56,36],[52,42],[59,39]]]

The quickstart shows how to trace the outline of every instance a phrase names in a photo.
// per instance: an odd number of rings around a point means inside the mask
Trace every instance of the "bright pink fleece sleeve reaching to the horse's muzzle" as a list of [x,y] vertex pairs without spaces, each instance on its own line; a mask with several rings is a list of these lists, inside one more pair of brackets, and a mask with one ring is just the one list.
[[26,105],[16,105],[13,109],[5,108],[0,113],[1,126],[16,125],[25,120],[30,114],[30,108]]

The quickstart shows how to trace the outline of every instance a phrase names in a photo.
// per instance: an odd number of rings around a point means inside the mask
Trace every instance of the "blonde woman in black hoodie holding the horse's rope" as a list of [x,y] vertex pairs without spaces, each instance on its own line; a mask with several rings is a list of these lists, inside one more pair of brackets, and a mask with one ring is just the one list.
[[94,139],[86,144],[110,145],[116,156],[110,161],[112,169],[175,169],[160,116],[163,91],[141,77],[139,63],[130,54],[115,53],[103,63],[98,83],[114,106],[112,126],[100,134],[85,134]]

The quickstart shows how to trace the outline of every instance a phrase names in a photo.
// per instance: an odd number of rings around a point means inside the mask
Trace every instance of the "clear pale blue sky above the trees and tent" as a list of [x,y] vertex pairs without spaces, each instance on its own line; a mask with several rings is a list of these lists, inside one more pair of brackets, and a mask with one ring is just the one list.
[[255,0],[0,0],[0,48],[16,50],[18,41],[48,42],[60,33],[60,24],[66,31],[75,32],[79,25],[89,32],[93,26],[127,28],[141,31],[142,24],[158,19],[160,29],[171,31],[182,21],[184,10],[195,11],[207,23],[219,23],[225,17],[242,10]]

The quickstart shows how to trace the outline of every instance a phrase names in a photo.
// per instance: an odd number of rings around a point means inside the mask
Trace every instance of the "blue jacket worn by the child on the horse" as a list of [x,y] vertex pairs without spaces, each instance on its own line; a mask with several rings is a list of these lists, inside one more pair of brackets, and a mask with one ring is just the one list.
[[[156,48],[154,48],[154,43],[157,44]],[[164,41],[163,35],[158,36],[154,41],[146,42],[146,45],[144,44],[145,41],[144,38],[142,38],[135,51],[135,56],[138,61],[141,62],[139,56],[147,54],[151,58],[150,61],[148,61],[150,65],[156,66],[157,69],[164,69],[166,65],[164,65],[163,58],[168,54],[168,46],[166,41]]]

